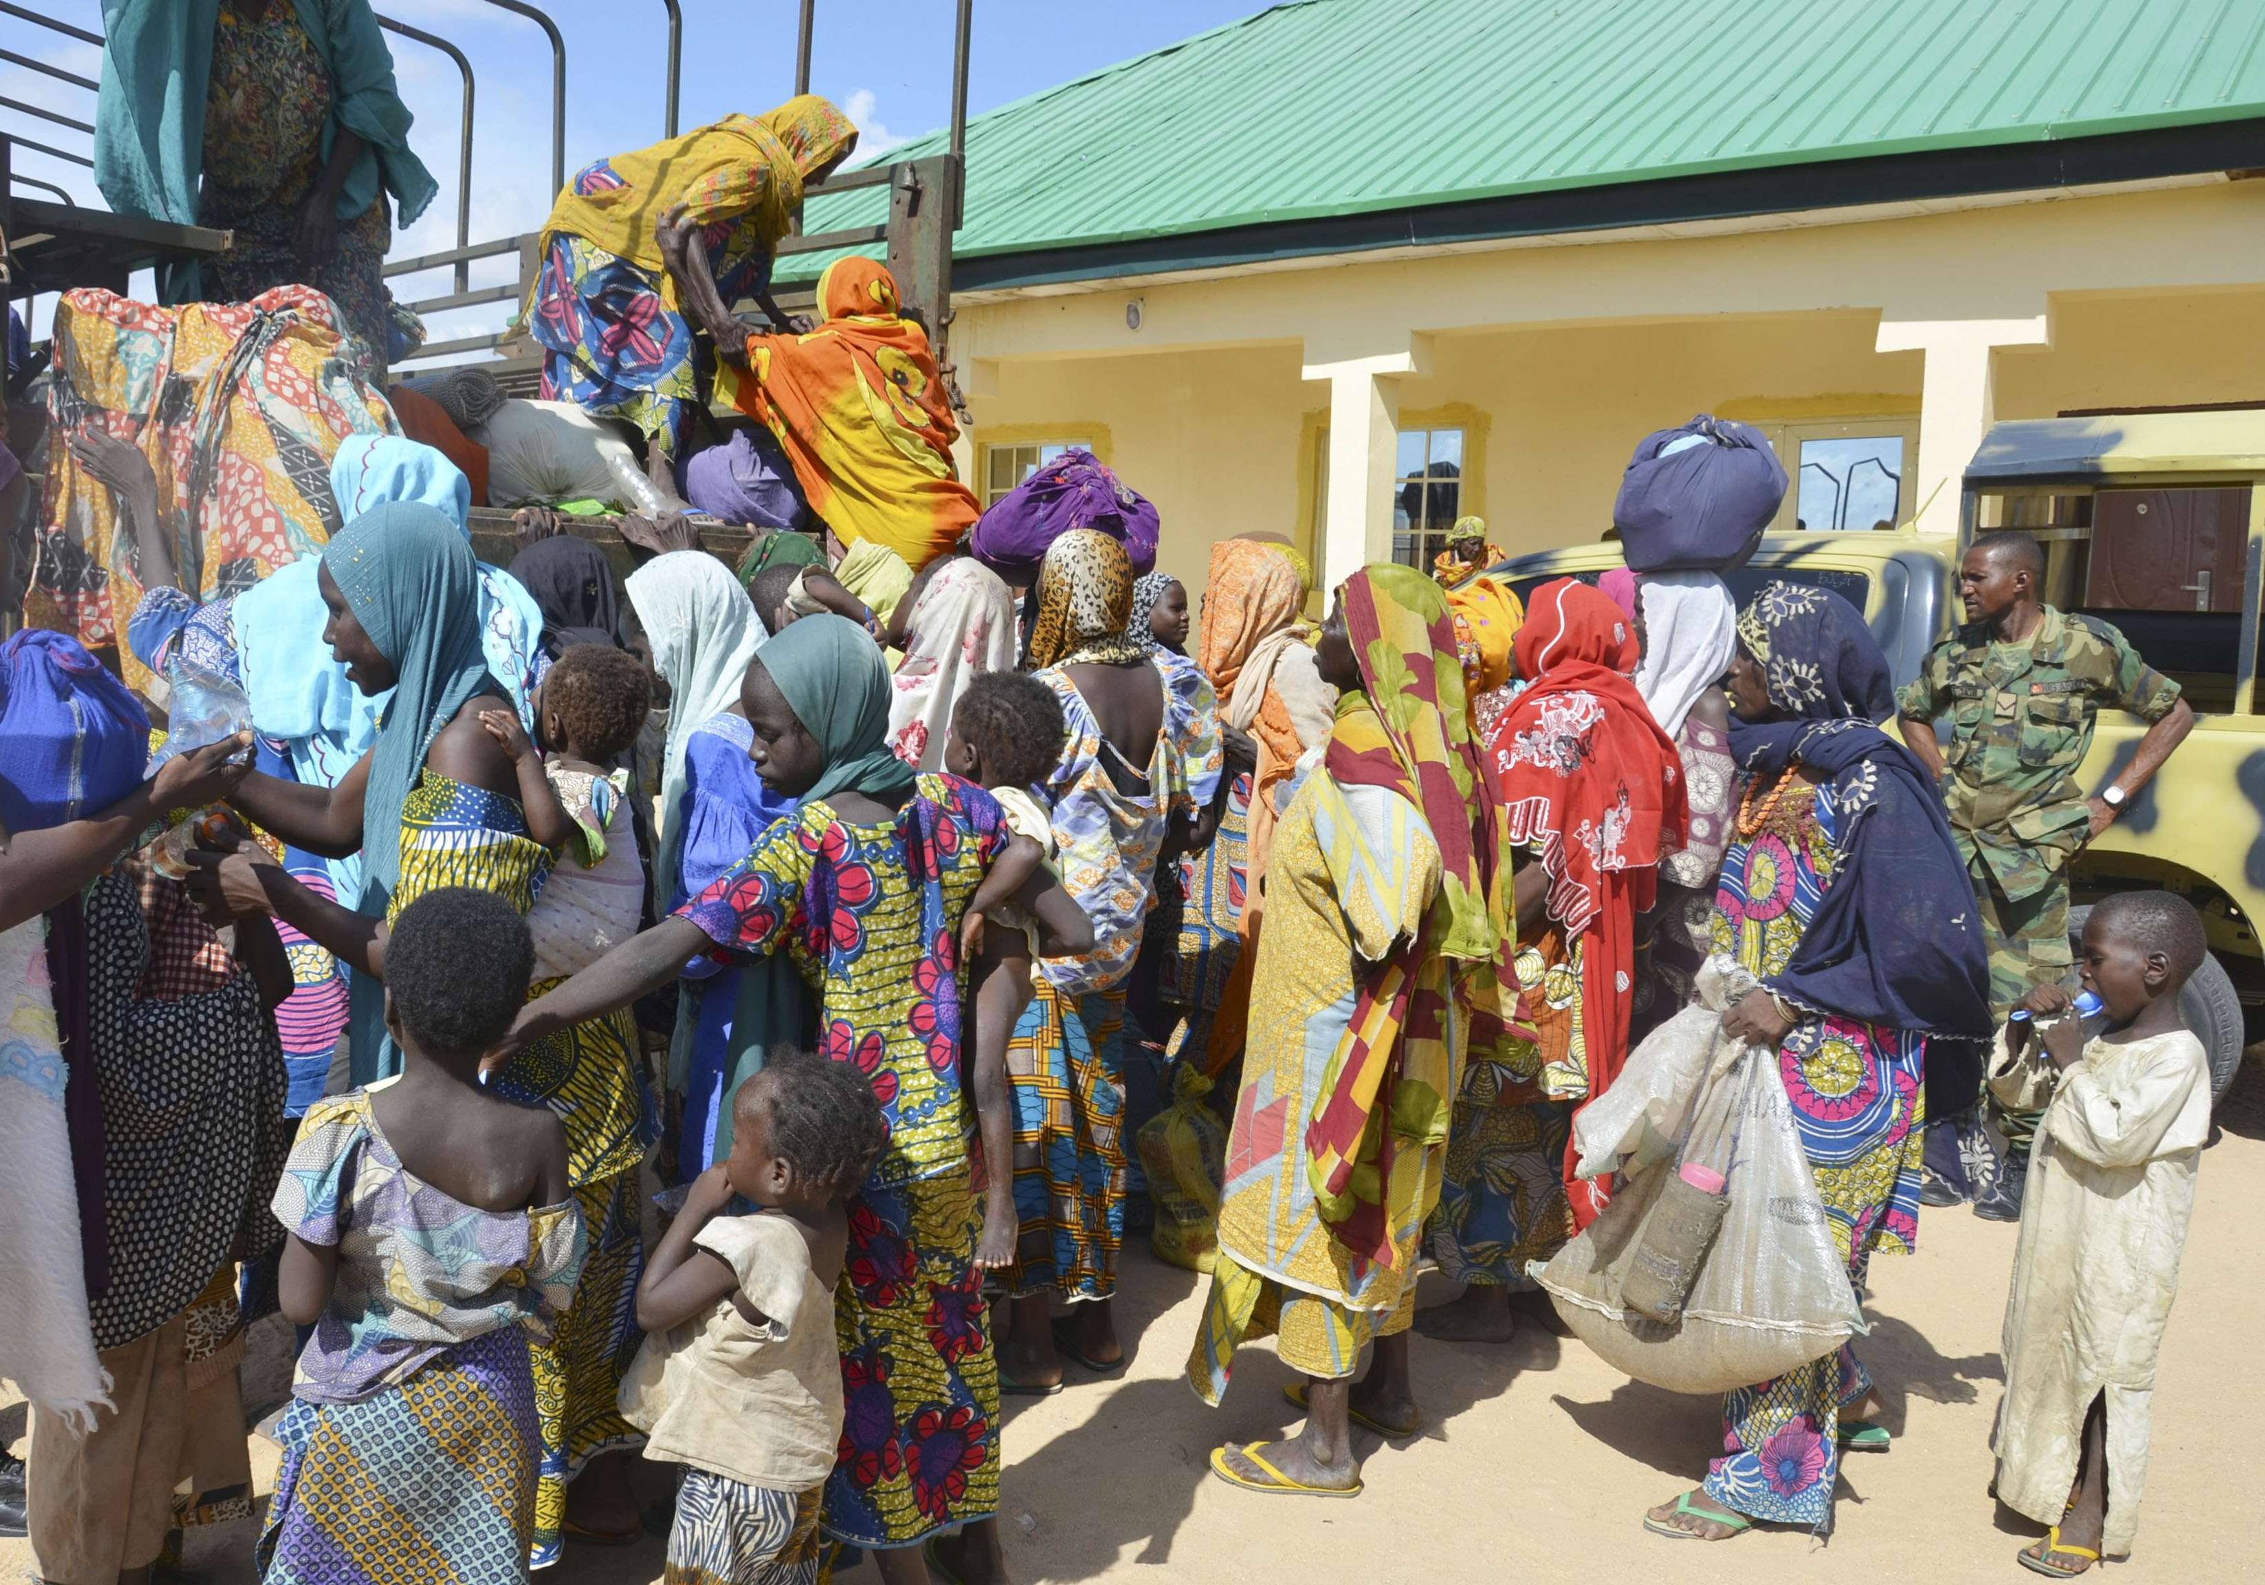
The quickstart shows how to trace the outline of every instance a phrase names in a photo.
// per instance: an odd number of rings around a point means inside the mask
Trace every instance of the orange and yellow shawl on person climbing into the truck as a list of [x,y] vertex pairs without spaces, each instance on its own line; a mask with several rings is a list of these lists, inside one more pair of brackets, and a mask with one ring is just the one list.
[[845,543],[872,541],[920,571],[981,507],[951,469],[951,417],[926,333],[904,317],[897,279],[872,258],[818,276],[809,335],[750,335],[747,371],[718,389],[770,426],[811,512]]

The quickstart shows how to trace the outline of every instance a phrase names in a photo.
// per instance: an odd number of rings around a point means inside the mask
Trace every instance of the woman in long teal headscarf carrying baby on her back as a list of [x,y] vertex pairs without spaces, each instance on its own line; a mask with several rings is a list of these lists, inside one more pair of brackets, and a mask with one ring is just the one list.
[[[444,885],[496,892],[519,913],[550,874],[528,833],[519,772],[480,725],[510,711],[480,650],[480,575],[462,530],[430,505],[396,500],[356,519],[322,552],[331,609],[324,636],[362,693],[394,688],[378,740],[335,788],[251,774],[231,799],[256,824],[319,856],[362,851],[362,897],[342,908],[256,847],[208,863],[231,913],[272,913],[353,971],[351,1082],[401,1071],[385,1037],[385,933],[417,897]],[[575,1302],[535,1347],[544,1463],[535,1492],[535,1562],[557,1558],[569,1524],[584,1535],[639,1531],[621,1454],[636,1433],[614,1408],[643,1340],[632,1295],[643,1273],[636,1166],[650,1143],[627,1014],[555,1030],[489,1076],[505,1096],[548,1105],[566,1128],[569,1182],[589,1230]],[[335,1064],[333,1064],[335,1069]],[[333,1087],[342,1087],[335,1082]],[[593,1463],[598,1460],[598,1463]]]

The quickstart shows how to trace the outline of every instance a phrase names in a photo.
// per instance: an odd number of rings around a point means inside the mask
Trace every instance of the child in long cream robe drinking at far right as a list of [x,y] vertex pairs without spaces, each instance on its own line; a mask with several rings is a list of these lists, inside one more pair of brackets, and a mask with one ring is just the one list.
[[2050,1096],[2005,1309],[1995,1490],[2048,1526],[2020,1562],[2052,1578],[2127,1556],[2138,1531],[2154,1365],[2211,1134],[2211,1064],[2179,1019],[2206,946],[2183,897],[2102,899],[2077,969],[2106,1030],[2086,1042],[2068,992],[2041,985],[2023,1008],[2043,1051],[1991,1080]]

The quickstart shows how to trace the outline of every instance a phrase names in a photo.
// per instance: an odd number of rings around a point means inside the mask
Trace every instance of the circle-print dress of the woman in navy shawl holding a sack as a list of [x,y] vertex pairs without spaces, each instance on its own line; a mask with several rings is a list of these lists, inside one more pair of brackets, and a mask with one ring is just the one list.
[[[1830,788],[1787,786],[1760,831],[1730,842],[1715,899],[1715,951],[1769,976],[1785,969],[1839,863]],[[1925,1134],[1921,1064],[1912,1030],[1814,1017],[1780,1046],[1778,1076],[1832,1241],[1862,1288],[1873,1250],[1918,1245],[1918,1150]],[[1871,1374],[1846,1345],[1773,1381],[1724,1399],[1724,1456],[1706,1494],[1773,1524],[1832,1526],[1839,1413],[1871,1393]]]

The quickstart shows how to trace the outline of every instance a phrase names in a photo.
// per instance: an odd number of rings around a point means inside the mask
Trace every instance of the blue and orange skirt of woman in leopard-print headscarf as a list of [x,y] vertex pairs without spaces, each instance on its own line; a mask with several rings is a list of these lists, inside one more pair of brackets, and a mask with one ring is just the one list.
[[[1092,999],[1087,999],[1092,1001]],[[1015,1297],[1117,1291],[1126,1234],[1123,1071],[1085,1035],[1085,1019],[1051,985],[1022,1010],[1006,1048],[1015,1085]]]

